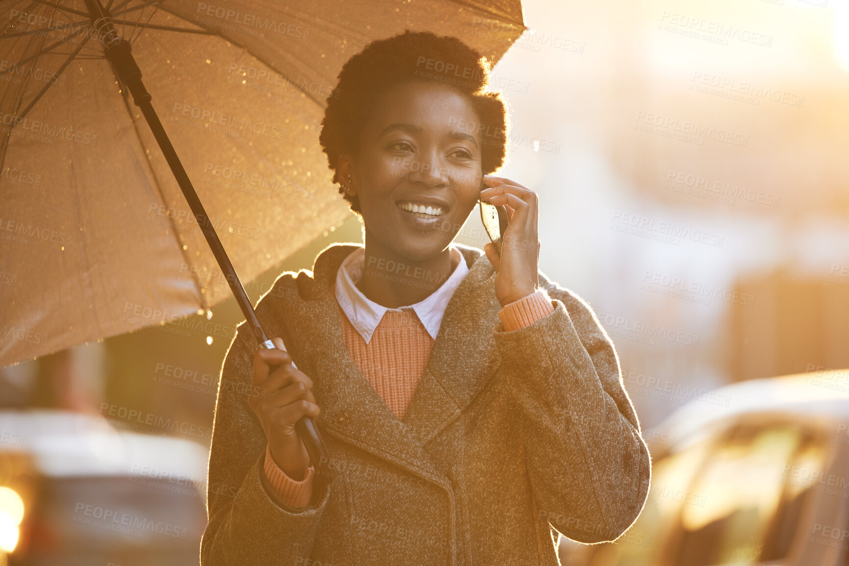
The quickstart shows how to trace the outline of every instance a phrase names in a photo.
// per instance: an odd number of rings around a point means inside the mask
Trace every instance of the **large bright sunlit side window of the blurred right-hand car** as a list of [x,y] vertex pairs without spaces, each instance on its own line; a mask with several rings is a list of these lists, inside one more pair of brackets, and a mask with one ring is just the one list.
[[[808,468],[822,468],[819,452],[806,438],[796,424],[745,425],[728,434],[691,487],[704,497],[704,504],[681,508],[673,563],[755,563],[767,552],[765,542],[769,553],[786,552],[787,546],[775,537],[795,529],[798,496],[806,490],[804,484],[790,482],[787,466],[803,462]],[[781,517],[792,521],[776,520]]]

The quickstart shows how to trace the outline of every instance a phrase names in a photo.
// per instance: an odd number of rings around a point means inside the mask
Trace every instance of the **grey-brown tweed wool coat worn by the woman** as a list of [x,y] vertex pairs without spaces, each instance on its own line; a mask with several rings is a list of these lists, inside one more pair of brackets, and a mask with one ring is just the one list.
[[333,245],[314,273],[278,277],[257,315],[314,382],[328,462],[304,509],[267,484],[266,439],[248,405],[257,345],[239,326],[218,389],[204,566],[554,565],[552,527],[611,541],[637,518],[649,451],[593,311],[540,274],[554,312],[505,332],[492,265],[458,248],[469,274],[400,421],[342,339],[331,286],[355,247]]

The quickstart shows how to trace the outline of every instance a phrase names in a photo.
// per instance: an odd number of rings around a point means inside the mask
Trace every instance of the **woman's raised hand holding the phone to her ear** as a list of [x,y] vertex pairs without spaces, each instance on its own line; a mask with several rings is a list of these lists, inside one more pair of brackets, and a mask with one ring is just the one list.
[[504,306],[537,290],[537,193],[503,177],[485,175],[484,182],[489,187],[481,191],[481,200],[503,205],[509,220],[501,243],[501,257],[492,242],[484,246],[486,257],[498,273],[495,295]]

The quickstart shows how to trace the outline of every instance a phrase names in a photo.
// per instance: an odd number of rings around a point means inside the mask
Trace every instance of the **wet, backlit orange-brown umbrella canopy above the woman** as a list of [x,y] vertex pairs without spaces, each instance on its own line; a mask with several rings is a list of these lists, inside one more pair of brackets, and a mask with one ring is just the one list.
[[[246,281],[350,215],[318,133],[353,53],[409,29],[495,62],[525,30],[518,0],[299,4],[104,4]],[[86,5],[0,12],[0,367],[230,294]]]

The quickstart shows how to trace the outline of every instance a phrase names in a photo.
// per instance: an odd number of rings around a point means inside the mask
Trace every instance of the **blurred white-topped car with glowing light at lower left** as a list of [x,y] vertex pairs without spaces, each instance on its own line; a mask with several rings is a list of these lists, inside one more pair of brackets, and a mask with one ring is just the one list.
[[96,415],[0,412],[0,564],[199,563],[208,455]]

